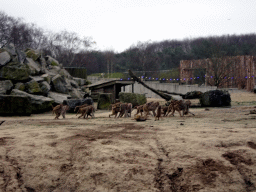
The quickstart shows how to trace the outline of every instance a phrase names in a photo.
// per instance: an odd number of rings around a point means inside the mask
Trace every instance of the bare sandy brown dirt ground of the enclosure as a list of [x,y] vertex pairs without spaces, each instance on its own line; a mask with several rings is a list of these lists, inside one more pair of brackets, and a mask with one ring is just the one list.
[[231,99],[159,121],[0,117],[0,192],[256,191],[256,94]]

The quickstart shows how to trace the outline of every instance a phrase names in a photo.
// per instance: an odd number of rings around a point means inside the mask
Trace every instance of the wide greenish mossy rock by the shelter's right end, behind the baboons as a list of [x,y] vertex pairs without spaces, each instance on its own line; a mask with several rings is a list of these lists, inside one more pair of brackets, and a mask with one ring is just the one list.
[[133,106],[143,105],[147,102],[147,98],[144,94],[136,93],[119,93],[119,99],[122,103],[132,103]]

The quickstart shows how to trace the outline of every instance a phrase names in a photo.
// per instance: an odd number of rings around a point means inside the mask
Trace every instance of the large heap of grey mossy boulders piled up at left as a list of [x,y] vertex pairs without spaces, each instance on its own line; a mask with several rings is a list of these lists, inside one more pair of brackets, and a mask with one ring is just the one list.
[[25,96],[32,101],[32,113],[41,112],[51,104],[67,99],[83,99],[81,86],[62,64],[40,51],[18,50],[13,44],[0,49],[0,94]]

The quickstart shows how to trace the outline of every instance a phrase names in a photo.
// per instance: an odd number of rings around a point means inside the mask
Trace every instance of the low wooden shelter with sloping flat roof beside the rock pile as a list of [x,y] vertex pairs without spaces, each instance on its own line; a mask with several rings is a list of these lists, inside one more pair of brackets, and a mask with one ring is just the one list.
[[[98,81],[91,85],[87,85],[87,88],[91,90],[91,94],[95,93],[112,93],[113,102],[119,98],[119,92],[121,88],[126,85],[132,85],[133,90],[134,81],[125,81],[125,80],[107,80],[107,81]],[[133,92],[133,91],[132,91]]]

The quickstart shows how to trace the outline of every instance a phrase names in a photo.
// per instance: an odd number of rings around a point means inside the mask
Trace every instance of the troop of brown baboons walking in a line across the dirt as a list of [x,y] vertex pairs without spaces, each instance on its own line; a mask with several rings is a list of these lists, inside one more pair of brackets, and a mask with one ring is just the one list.
[[[131,113],[133,110],[132,103],[122,103],[120,101],[111,104],[111,114],[109,114],[109,118],[111,116],[115,116],[115,118],[126,118],[131,117]],[[190,100],[183,101],[183,100],[172,100],[169,106],[160,105],[159,102],[148,102],[144,105],[135,106],[134,109],[137,109],[136,114],[134,114],[134,119],[136,121],[146,121],[148,120],[148,115],[152,112],[152,116],[155,117],[155,121],[159,120],[161,117],[174,116],[175,111],[178,111],[180,117],[184,115],[188,115],[189,113],[195,116],[194,113],[189,111],[191,106]],[[55,107],[52,106],[52,113],[55,114],[54,119],[59,119],[60,115],[62,115],[63,119],[65,119],[65,114],[69,110],[68,105],[59,104]],[[76,116],[81,114],[78,119],[83,117],[84,119],[88,119],[89,116],[94,118],[95,108],[92,105],[84,104],[81,106],[76,106],[74,112]],[[182,112],[182,114],[181,114]]]

